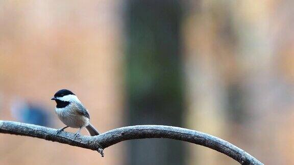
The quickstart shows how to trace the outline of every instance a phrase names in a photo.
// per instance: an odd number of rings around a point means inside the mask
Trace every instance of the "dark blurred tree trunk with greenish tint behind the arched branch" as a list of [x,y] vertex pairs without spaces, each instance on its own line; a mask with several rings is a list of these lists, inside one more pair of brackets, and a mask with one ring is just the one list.
[[[183,126],[179,1],[128,1],[127,100],[129,124]],[[129,142],[127,164],[184,164],[182,143]]]

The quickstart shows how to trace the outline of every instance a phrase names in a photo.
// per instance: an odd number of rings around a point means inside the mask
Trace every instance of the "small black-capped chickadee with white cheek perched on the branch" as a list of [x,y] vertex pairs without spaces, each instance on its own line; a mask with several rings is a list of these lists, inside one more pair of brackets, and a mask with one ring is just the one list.
[[55,93],[51,100],[56,101],[55,112],[66,127],[57,130],[57,133],[67,127],[80,128],[75,134],[75,139],[80,135],[83,127],[86,127],[91,136],[99,135],[99,132],[90,124],[90,115],[78,97],[69,90],[62,89]]

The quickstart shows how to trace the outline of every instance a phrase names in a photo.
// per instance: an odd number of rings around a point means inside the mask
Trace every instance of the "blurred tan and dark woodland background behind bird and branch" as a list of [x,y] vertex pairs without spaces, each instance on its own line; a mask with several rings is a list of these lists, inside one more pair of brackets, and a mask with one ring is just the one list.
[[[61,128],[50,98],[66,88],[101,132],[179,126],[218,136],[265,164],[294,164],[293,5],[0,1],[0,120]],[[87,149],[0,134],[0,164],[82,163],[238,164],[173,140],[122,142],[102,158]]]

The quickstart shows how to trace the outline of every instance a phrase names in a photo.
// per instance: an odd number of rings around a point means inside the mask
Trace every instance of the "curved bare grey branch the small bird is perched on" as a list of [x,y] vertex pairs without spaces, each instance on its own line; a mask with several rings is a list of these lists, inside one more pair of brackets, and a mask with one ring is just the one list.
[[71,146],[91,149],[103,154],[103,149],[116,143],[146,138],[167,138],[198,144],[224,153],[240,164],[263,164],[249,153],[207,133],[163,125],[136,125],[121,127],[102,133],[97,136],[80,136],[74,140],[74,133],[60,132],[57,129],[0,120],[0,133],[9,133],[38,137],[47,141],[59,142]]

